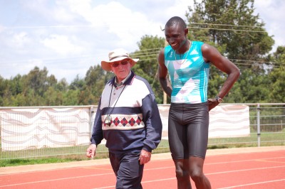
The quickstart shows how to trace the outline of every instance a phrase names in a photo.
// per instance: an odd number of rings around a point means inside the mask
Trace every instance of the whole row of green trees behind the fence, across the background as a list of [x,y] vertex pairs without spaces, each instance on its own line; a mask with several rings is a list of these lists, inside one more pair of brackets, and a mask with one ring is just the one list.
[[[254,15],[254,0],[195,1],[194,8],[188,7],[185,16],[190,40],[213,45],[242,72],[224,102],[285,102],[285,46],[270,53],[274,41],[259,15]],[[165,38],[146,35],[138,42],[138,50],[130,53],[131,57],[140,58],[133,70],[150,82],[159,104],[163,102],[163,91],[157,80],[157,55],[164,46]],[[214,67],[210,69],[208,96],[214,97],[227,75]],[[27,75],[9,80],[0,75],[0,105],[98,104],[105,83],[113,76],[100,65],[90,66],[85,77],[77,75],[70,84],[48,75],[47,68],[35,67]]]

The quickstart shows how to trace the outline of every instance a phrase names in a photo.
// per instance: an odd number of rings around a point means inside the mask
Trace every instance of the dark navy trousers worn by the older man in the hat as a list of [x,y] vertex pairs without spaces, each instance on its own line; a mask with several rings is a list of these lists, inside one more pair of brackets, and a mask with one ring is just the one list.
[[144,165],[140,165],[138,153],[111,153],[110,163],[117,177],[116,188],[142,188],[142,173]]

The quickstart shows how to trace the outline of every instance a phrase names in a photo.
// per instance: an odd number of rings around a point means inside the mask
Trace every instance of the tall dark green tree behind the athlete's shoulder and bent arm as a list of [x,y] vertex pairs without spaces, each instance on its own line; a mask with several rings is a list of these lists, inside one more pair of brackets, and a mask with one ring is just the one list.
[[[268,84],[264,80],[264,60],[274,40],[259,21],[259,15],[254,15],[254,0],[202,0],[201,3],[195,0],[194,9],[189,7],[186,16],[190,40],[215,46],[242,70],[238,82],[250,85],[244,90],[241,84],[235,84],[224,102],[256,102],[259,97],[262,101],[259,85]],[[248,75],[247,69],[253,70],[253,75]],[[225,79],[222,72],[211,68],[208,96],[217,95]],[[262,92],[268,94],[266,89]],[[230,97],[233,94],[237,97]]]

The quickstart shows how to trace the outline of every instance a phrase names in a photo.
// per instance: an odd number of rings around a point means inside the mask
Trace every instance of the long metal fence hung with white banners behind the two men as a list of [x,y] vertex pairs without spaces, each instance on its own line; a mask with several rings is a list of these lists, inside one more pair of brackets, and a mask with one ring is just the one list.
[[[159,104],[168,150],[168,111]],[[84,154],[97,106],[1,107],[0,159]],[[209,148],[285,145],[284,104],[220,104],[209,112]],[[98,152],[107,153],[105,141]]]

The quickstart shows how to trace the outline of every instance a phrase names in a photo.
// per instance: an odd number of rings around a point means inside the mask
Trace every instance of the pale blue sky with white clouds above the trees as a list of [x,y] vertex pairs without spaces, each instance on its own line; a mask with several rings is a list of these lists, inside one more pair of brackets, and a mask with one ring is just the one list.
[[[115,48],[132,53],[142,36],[164,38],[161,28],[172,16],[186,20],[188,6],[192,0],[0,0],[0,76],[38,67],[70,84]],[[274,52],[285,45],[285,1],[255,0],[254,7]]]

